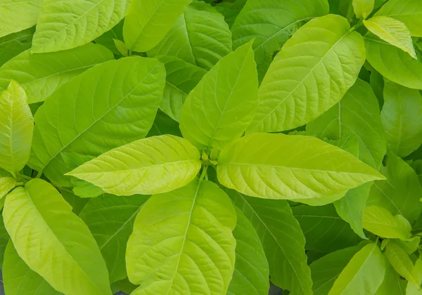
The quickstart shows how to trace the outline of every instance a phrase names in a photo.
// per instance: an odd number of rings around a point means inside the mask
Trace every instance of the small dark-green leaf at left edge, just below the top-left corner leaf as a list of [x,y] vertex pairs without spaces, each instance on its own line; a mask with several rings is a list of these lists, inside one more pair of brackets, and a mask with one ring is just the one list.
[[19,53],[31,48],[35,27],[0,38],[0,66]]

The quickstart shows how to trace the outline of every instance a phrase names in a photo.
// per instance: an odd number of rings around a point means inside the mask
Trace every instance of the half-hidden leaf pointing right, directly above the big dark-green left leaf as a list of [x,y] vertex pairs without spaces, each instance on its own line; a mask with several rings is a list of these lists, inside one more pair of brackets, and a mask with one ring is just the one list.
[[13,79],[27,93],[28,103],[38,103],[73,77],[113,58],[108,49],[98,44],[55,53],[31,54],[27,50],[0,68],[0,90],[6,89]]

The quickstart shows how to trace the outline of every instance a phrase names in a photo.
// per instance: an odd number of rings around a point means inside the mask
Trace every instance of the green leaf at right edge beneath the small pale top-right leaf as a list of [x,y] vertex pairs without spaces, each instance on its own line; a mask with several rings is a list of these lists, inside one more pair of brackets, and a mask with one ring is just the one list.
[[[366,59],[385,78],[413,89],[422,89],[422,58],[408,53],[368,32],[364,36]],[[409,70],[411,69],[411,70]]]

